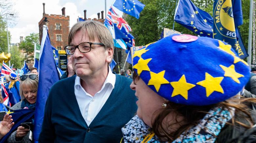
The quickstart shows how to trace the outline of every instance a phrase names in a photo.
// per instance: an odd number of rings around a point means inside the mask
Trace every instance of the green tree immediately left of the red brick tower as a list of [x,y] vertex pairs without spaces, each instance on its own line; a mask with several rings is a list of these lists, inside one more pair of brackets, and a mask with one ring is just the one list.
[[31,33],[20,43],[20,49],[25,50],[29,61],[32,61],[34,57],[34,43],[39,43],[38,33]]

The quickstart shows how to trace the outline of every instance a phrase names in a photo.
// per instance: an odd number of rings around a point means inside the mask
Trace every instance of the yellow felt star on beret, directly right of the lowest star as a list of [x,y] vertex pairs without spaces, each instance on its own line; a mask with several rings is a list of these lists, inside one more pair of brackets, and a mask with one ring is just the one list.
[[205,80],[198,82],[197,84],[205,87],[206,97],[209,97],[214,91],[224,93],[221,87],[221,82],[224,77],[213,77],[209,73],[205,72]]

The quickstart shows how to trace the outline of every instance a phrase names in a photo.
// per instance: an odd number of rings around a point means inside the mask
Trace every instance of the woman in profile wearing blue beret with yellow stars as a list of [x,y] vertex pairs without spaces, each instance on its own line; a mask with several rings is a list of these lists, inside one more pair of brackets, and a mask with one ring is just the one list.
[[122,142],[255,142],[253,98],[239,92],[249,67],[230,45],[172,35],[135,52],[137,115]]

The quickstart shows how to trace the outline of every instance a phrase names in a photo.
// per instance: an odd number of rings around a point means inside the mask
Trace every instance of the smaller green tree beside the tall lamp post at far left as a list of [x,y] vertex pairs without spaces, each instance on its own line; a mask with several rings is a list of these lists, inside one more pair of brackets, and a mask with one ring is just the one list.
[[17,46],[12,46],[10,49],[11,53],[11,64],[13,64],[13,68],[21,68],[24,57],[20,55],[21,51]]

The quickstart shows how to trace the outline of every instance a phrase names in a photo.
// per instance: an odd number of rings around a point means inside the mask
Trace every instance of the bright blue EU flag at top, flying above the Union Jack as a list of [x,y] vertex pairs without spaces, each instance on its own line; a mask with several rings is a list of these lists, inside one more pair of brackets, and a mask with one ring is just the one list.
[[145,5],[138,0],[116,0],[113,6],[137,19],[139,19],[139,13],[145,7]]

